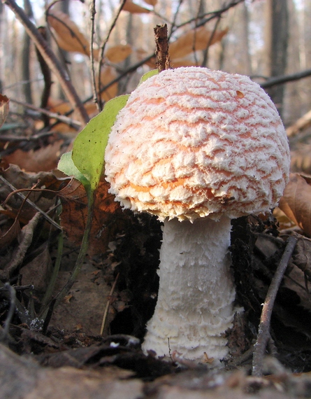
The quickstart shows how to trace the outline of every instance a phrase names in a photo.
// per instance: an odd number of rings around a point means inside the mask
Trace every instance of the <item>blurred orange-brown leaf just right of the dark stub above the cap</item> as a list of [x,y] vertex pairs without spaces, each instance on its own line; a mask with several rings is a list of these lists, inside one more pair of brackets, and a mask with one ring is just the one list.
[[221,41],[227,34],[228,29],[223,31],[208,31],[205,27],[192,29],[180,36],[176,41],[170,43],[170,56],[172,62],[184,58],[191,52],[205,50],[208,45]]

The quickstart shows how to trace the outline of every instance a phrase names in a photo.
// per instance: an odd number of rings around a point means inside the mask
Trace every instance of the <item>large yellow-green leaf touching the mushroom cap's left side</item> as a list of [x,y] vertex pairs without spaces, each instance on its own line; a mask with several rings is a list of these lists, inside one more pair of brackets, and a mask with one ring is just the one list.
[[129,94],[125,94],[106,102],[103,111],[87,123],[73,143],[73,163],[89,181],[92,191],[96,190],[101,179],[103,158],[111,127],[128,98]]

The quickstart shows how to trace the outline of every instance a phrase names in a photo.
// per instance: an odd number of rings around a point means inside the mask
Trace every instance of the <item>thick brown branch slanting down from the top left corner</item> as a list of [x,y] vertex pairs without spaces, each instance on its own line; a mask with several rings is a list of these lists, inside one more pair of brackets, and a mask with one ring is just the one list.
[[71,81],[68,79],[68,76],[66,76],[66,73],[64,73],[62,65],[59,63],[57,57],[55,57],[54,52],[52,52],[48,46],[48,43],[44,40],[43,36],[39,34],[34,24],[24,13],[24,10],[20,8],[20,6],[17,6],[17,3],[15,3],[14,0],[2,0],[2,2],[6,4],[13,11],[13,13],[15,13],[16,18],[20,20],[25,31],[27,31],[27,34],[29,34],[32,41],[34,41],[36,48],[38,48],[38,50],[41,52],[45,62],[48,64],[51,71],[55,73],[55,76],[57,77],[59,84],[62,86],[62,90],[64,90],[64,93],[71,103],[71,106],[73,109],[77,109],[81,122],[87,123],[89,121],[87,111],[80,101],[80,98],[78,97],[78,94],[75,91]]

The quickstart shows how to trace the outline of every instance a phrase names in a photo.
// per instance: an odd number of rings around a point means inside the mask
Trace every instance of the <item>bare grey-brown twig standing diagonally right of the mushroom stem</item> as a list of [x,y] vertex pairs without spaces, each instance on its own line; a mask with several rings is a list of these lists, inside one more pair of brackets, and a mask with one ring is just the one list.
[[261,377],[263,374],[263,358],[266,351],[266,346],[268,340],[270,339],[270,320],[273,309],[273,304],[275,302],[275,297],[277,296],[277,290],[280,287],[285,270],[291,258],[291,254],[296,246],[297,239],[293,236],[289,237],[287,240],[287,246],[285,247],[284,253],[280,260],[279,265],[273,279],[270,283],[268,293],[266,295],[266,300],[263,303],[263,308],[261,311],[261,318],[258,328],[258,335],[256,343],[254,344],[254,356],[252,363],[252,375],[254,377]]

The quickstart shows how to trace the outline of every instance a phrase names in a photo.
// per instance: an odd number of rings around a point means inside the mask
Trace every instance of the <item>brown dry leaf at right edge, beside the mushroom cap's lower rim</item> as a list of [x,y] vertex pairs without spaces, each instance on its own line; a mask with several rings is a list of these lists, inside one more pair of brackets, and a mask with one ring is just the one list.
[[292,173],[279,207],[291,221],[294,221],[307,235],[311,236],[310,178]]

